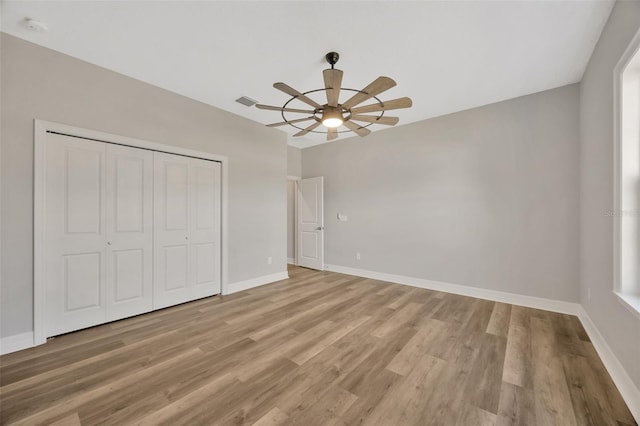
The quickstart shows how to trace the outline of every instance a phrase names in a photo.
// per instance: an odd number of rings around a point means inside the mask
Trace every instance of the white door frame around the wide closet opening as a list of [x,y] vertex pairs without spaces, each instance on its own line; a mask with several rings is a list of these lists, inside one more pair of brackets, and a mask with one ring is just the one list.
[[166,145],[149,142],[142,139],[134,139],[126,136],[100,132],[97,130],[83,129],[62,123],[46,120],[34,120],[34,157],[33,157],[33,344],[40,345],[46,342],[44,332],[44,236],[46,232],[46,204],[45,204],[45,144],[47,133],[60,133],[67,136],[89,139],[98,142],[115,145],[142,148],[150,151],[166,152],[169,154],[183,155],[186,157],[202,158],[218,161],[222,167],[221,179],[221,247],[220,247],[220,286],[221,293],[228,291],[228,183],[229,183],[229,159],[223,155],[196,151],[174,145]]

